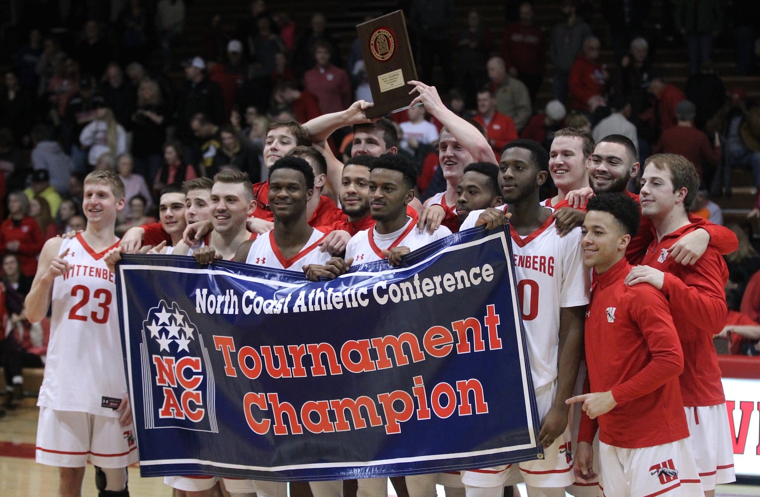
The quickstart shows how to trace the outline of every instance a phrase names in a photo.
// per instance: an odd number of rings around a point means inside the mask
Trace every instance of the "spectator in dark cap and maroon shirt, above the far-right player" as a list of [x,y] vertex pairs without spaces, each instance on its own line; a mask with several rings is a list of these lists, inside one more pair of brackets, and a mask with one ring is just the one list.
[[676,105],[676,125],[663,130],[654,154],[667,152],[686,157],[697,169],[699,179],[709,185],[720,160],[720,140],[716,136],[714,148],[710,146],[705,133],[694,127],[696,112],[696,106],[689,100],[680,101]]

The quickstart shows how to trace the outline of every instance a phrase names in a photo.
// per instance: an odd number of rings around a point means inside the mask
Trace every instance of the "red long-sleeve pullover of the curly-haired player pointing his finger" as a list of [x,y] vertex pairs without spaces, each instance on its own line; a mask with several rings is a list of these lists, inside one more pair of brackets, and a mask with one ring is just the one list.
[[[652,447],[689,436],[678,375],[683,353],[663,294],[648,284],[625,285],[625,258],[596,283],[586,313],[585,347],[591,391],[617,402],[599,416],[599,439],[622,448]],[[584,413],[579,442],[592,442],[596,423]]]

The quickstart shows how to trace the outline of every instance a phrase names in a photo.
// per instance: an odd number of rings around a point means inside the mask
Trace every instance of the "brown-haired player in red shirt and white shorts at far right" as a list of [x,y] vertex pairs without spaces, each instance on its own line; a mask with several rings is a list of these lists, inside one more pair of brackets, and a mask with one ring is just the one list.
[[641,214],[651,220],[656,237],[641,266],[635,266],[625,283],[649,283],[661,290],[670,304],[684,350],[680,376],[689,438],[705,495],[715,485],[736,480],[733,470],[733,433],[726,416],[726,397],[713,337],[726,323],[724,287],[726,263],[708,247],[696,263],[678,264],[669,250],[697,227],[689,221],[689,206],[697,195],[699,176],[685,157],[655,154],[646,160],[641,177]]

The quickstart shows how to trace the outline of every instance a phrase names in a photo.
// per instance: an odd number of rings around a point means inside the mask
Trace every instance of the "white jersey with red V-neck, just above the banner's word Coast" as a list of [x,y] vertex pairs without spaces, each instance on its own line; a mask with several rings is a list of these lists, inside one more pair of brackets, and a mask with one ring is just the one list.
[[312,228],[312,236],[301,252],[286,259],[277,243],[274,242],[274,230],[270,230],[258,236],[252,243],[248,257],[245,258],[245,264],[258,264],[290,271],[302,271],[302,267],[306,264],[325,264],[332,258],[330,252],[321,252],[318,245],[325,236],[325,233]]

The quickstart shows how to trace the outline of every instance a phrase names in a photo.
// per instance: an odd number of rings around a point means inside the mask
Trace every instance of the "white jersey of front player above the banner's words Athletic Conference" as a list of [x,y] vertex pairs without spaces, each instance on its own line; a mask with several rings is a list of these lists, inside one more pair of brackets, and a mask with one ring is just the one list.
[[429,235],[427,231],[420,233],[412,218],[407,220],[401,230],[396,230],[387,235],[381,235],[373,226],[369,230],[359,231],[351,237],[348,245],[346,245],[346,260],[353,258],[354,264],[382,261],[385,259],[383,250],[390,250],[394,247],[409,247],[410,250],[416,250],[449,235],[451,235],[451,230],[446,226],[440,226],[432,235]]

